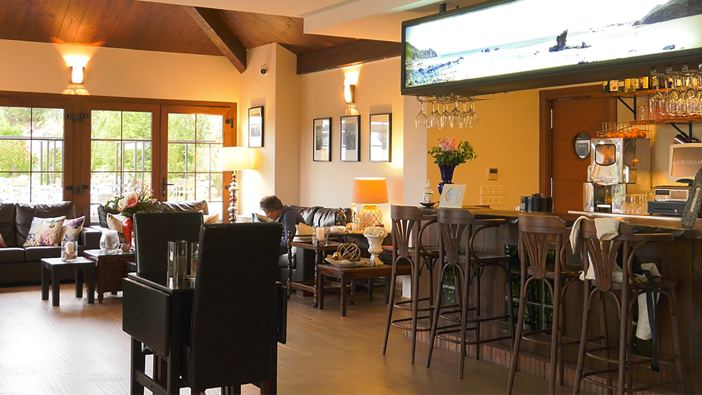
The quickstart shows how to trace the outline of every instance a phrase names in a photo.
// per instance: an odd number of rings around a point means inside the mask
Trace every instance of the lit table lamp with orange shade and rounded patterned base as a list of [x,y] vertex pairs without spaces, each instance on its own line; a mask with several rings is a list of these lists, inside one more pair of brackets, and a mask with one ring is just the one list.
[[388,181],[378,177],[354,178],[351,201],[363,204],[357,213],[360,230],[380,225],[383,214],[378,210],[378,204],[388,203]]

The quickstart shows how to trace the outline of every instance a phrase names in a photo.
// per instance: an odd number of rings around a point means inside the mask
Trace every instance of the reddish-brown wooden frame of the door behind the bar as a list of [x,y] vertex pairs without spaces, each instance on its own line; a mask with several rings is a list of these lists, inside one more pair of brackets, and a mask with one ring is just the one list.
[[[551,195],[552,133],[551,110],[554,100],[581,99],[602,96],[602,85],[574,86],[571,88],[548,89],[538,93],[538,192]],[[614,102],[616,114],[616,102]]]

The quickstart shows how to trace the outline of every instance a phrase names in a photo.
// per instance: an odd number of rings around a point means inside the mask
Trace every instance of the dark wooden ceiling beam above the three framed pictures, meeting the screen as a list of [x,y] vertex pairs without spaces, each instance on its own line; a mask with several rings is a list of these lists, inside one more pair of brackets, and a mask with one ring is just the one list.
[[321,72],[359,65],[373,60],[395,58],[402,44],[394,41],[358,40],[341,46],[298,55],[298,74]]

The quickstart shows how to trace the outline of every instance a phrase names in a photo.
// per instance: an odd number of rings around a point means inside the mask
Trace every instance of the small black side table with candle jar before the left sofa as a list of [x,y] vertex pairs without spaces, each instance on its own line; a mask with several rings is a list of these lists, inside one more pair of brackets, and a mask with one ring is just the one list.
[[48,300],[48,283],[51,280],[51,305],[56,307],[60,299],[60,272],[76,271],[76,297],[83,297],[83,271],[86,272],[88,286],[88,303],[95,302],[95,262],[84,257],[77,257],[73,262],[64,262],[61,258],[41,259],[41,300]]

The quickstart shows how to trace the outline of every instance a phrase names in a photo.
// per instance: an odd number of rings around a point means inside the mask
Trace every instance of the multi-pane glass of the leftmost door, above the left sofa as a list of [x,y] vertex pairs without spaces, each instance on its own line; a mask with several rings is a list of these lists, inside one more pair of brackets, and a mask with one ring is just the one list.
[[0,107],[0,201],[64,199],[65,109]]

